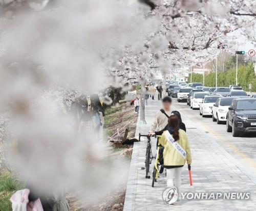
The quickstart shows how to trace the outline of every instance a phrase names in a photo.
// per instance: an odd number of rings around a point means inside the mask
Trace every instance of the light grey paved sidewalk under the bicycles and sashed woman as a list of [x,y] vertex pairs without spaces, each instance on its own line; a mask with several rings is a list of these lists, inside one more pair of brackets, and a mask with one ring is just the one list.
[[[147,134],[160,104],[159,100],[148,100],[148,106],[145,108],[147,124],[140,124],[138,118],[136,136],[139,133]],[[141,170],[145,165],[146,149],[146,139],[142,139],[134,144],[123,210],[254,210],[256,186],[246,175],[242,165],[217,143],[216,137],[207,134],[199,124],[184,115],[182,120],[187,127],[192,153],[193,186],[189,186],[187,166],[184,166],[181,192],[250,192],[250,199],[181,200],[177,205],[165,205],[162,200],[162,192],[166,188],[165,174],[160,175],[152,188],[152,179],[145,179],[145,170]],[[155,154],[155,138],[152,138],[152,146]],[[150,171],[154,162],[155,160]]]

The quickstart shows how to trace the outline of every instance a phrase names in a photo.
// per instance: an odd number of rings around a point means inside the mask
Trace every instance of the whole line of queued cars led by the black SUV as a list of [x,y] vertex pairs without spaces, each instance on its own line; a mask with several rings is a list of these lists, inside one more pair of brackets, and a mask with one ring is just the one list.
[[[200,83],[198,83],[200,84]],[[242,87],[204,87],[187,85],[177,92],[177,101],[185,101],[193,110],[198,109],[202,117],[211,116],[217,124],[226,123],[227,132],[233,137],[245,132],[256,132],[256,96],[247,95]]]

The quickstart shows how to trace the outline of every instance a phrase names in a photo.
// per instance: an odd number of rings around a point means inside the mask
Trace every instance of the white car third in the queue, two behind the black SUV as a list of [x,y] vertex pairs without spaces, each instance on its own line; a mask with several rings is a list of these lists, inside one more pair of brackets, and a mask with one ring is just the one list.
[[203,102],[200,103],[200,115],[203,117],[212,115],[212,107],[216,103],[217,99],[222,97],[221,95],[208,95],[203,98]]

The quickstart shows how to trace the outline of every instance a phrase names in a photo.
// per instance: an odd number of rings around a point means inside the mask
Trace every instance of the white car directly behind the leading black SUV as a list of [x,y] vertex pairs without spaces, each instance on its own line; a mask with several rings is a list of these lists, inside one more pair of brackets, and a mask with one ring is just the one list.
[[220,97],[217,99],[214,107],[212,107],[212,121],[217,121],[217,124],[226,122],[228,107],[230,107],[232,100],[236,98],[237,97]]

